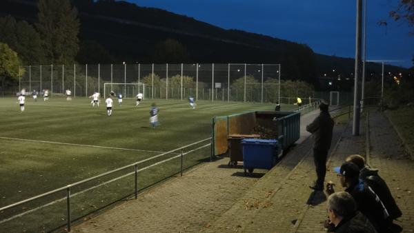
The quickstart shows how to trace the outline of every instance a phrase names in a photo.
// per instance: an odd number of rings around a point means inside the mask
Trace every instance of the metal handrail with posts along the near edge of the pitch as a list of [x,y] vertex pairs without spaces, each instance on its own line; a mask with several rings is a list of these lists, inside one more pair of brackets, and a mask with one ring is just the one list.
[[[92,177],[90,177],[90,178],[88,178],[88,179],[83,179],[82,181],[78,181],[78,182],[75,182],[75,183],[71,183],[71,184],[69,184],[69,185],[66,185],[66,186],[63,186],[63,187],[61,187],[61,188],[57,188],[57,189],[55,189],[55,190],[51,190],[51,191],[49,191],[49,192],[45,192],[45,193],[43,193],[43,194],[39,194],[39,195],[37,195],[37,196],[33,196],[33,197],[31,197],[31,198],[29,198],[29,199],[25,199],[25,200],[23,200],[23,201],[19,201],[19,202],[17,202],[17,203],[12,203],[12,204],[10,204],[10,205],[6,205],[6,206],[4,206],[4,207],[0,207],[0,212],[1,211],[3,211],[3,210],[8,210],[8,209],[10,209],[10,208],[12,208],[12,207],[16,207],[16,206],[18,206],[18,205],[22,205],[22,204],[24,204],[24,203],[28,203],[28,202],[30,202],[30,201],[34,201],[34,200],[36,200],[36,199],[40,199],[40,198],[42,198],[42,197],[44,197],[44,196],[48,196],[48,195],[50,195],[50,194],[55,194],[55,193],[57,193],[57,192],[60,192],[60,191],[62,191],[62,190],[66,190],[67,191],[67,209],[68,209],[68,231],[70,231],[70,223],[71,223],[71,221],[70,221],[70,196],[71,196],[71,194],[70,194],[70,188],[72,188],[72,187],[75,187],[75,186],[77,186],[77,185],[80,185],[80,184],[83,184],[83,183],[86,183],[86,182],[89,182],[89,181],[92,181],[92,180],[95,180],[95,179],[99,179],[99,178],[101,178],[101,177],[103,177],[103,176],[106,176],[106,175],[108,175],[108,174],[112,174],[112,173],[115,173],[115,172],[119,172],[120,170],[124,170],[124,169],[126,169],[126,168],[130,168],[130,167],[132,167],[132,166],[135,166],[135,181],[137,181],[137,172],[139,171],[138,169],[137,169],[137,165],[138,164],[140,164],[140,163],[144,163],[144,162],[146,162],[146,161],[150,161],[151,159],[156,159],[156,158],[158,158],[158,157],[160,157],[160,156],[164,156],[164,155],[166,155],[166,154],[170,154],[170,153],[172,153],[172,152],[175,152],[175,151],[177,151],[177,150],[180,150],[181,152],[179,153],[179,155],[177,155],[177,156],[174,156],[174,157],[172,157],[172,158],[177,158],[178,156],[181,156],[181,176],[182,176],[182,170],[183,170],[183,167],[182,167],[182,156],[184,155],[184,154],[188,154],[189,152],[186,152],[186,153],[183,153],[183,150],[184,150],[184,148],[188,148],[188,147],[190,147],[190,146],[192,146],[192,145],[197,145],[197,144],[199,144],[199,143],[202,143],[202,142],[204,142],[204,141],[208,141],[208,140],[210,140],[211,141],[211,137],[210,138],[208,138],[208,139],[203,139],[203,140],[200,140],[200,141],[197,141],[197,142],[195,142],[195,143],[190,143],[190,144],[188,144],[188,145],[184,145],[184,146],[182,146],[182,147],[180,147],[180,148],[176,148],[176,149],[174,149],[174,150],[170,150],[170,151],[168,151],[168,152],[163,152],[163,153],[161,153],[161,154],[158,154],[158,155],[156,155],[156,156],[152,156],[152,157],[150,157],[150,158],[148,158],[148,159],[144,159],[144,160],[142,160],[142,161],[138,161],[138,162],[135,162],[135,163],[131,163],[131,164],[129,164],[129,165],[125,165],[125,166],[123,166],[123,167],[121,167],[121,168],[117,168],[117,169],[115,169],[115,170],[110,170],[110,171],[108,171],[108,172],[104,172],[104,173],[102,173],[102,174],[99,174],[99,175],[97,175],[97,176],[92,176]],[[211,145],[211,143],[210,143],[210,145]],[[204,145],[203,147],[206,147],[207,145]],[[191,150],[190,152],[192,152],[192,151],[195,151],[195,150]],[[156,164],[158,164],[158,163],[156,163]],[[134,173],[134,172],[132,172],[132,173]],[[131,174],[132,174],[131,173]],[[129,174],[128,174],[129,175]],[[135,199],[137,199],[137,182],[135,182]]]

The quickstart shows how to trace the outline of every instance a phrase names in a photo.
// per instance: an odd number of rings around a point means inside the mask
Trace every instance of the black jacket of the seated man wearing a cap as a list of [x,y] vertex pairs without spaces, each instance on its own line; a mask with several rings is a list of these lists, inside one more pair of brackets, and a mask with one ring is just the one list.
[[364,181],[359,180],[358,183],[346,188],[345,191],[353,196],[358,210],[373,224],[377,232],[384,232],[388,229],[389,222],[386,221],[389,217],[388,212],[380,199],[377,199],[377,194]]

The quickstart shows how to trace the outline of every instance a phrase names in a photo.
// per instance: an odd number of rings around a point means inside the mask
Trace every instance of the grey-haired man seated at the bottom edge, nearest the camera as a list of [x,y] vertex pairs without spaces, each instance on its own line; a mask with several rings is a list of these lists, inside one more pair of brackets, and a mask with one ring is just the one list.
[[357,211],[355,200],[348,192],[335,192],[328,197],[329,232],[375,233],[366,216]]

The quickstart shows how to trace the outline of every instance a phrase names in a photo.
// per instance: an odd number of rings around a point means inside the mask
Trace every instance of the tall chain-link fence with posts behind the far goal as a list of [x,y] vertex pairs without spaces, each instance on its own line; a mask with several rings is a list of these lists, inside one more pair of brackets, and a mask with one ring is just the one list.
[[[146,99],[210,101],[279,101],[279,64],[104,64],[25,65],[19,70],[19,92],[49,90],[74,97],[103,93],[104,83],[143,83]],[[115,93],[128,97],[127,85]]]

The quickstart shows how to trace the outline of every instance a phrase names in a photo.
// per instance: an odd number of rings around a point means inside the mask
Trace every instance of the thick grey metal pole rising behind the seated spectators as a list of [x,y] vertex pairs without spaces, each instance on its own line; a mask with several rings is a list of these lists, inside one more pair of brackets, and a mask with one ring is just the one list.
[[357,19],[355,37],[355,81],[354,81],[354,106],[353,106],[353,128],[352,134],[359,135],[360,94],[359,94],[359,64],[361,63],[361,26],[362,26],[362,0],[357,0]]

